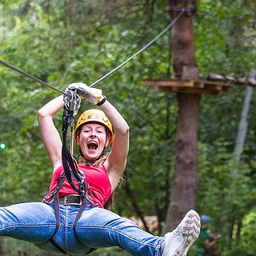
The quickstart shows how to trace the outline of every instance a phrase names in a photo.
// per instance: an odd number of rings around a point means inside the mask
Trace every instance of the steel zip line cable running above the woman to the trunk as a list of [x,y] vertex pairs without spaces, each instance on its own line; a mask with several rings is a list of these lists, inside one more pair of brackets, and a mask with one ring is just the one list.
[[[174,26],[175,22],[178,21],[179,18],[182,17],[182,14],[184,14],[186,11],[185,8],[182,8],[181,12],[172,20],[172,22],[170,22],[170,24],[168,26],[166,26],[166,28],[164,30],[162,30],[161,33],[159,33],[153,40],[151,40],[149,43],[146,44],[146,46],[142,47],[141,50],[138,50],[138,52],[134,55],[132,55],[130,58],[126,59],[125,62],[122,62],[119,66],[117,66],[116,68],[114,68],[114,70],[111,70],[109,73],[105,74],[102,78],[99,78],[96,82],[92,83],[90,85],[90,87],[93,87],[95,86],[96,84],[98,84],[98,82],[101,82],[103,79],[107,78],[108,76],[110,76],[110,74],[113,74],[116,70],[118,70],[120,67],[124,66],[127,62],[130,62],[130,60],[132,60],[133,58],[135,58],[138,54],[140,54],[143,50],[146,50],[146,48],[148,48],[149,46],[152,45],[152,43],[154,43],[156,40],[158,40],[158,38],[160,38],[162,36],[162,34],[165,34],[167,30],[170,29],[170,27]],[[51,86],[49,83],[47,82],[43,82],[42,80],[34,77],[33,75],[31,74],[27,74],[26,72],[22,71],[22,70],[19,70],[17,67],[15,66],[12,66],[6,62],[3,62],[1,59],[0,59],[0,64],[10,68],[11,70],[14,70],[22,75],[24,75],[26,78],[30,78],[32,80],[34,80],[35,82],[38,82],[40,83],[42,86],[46,86],[52,90],[55,90],[57,91],[58,93],[60,94],[66,94],[64,91],[62,90],[58,90],[57,88],[55,88],[54,86]]]

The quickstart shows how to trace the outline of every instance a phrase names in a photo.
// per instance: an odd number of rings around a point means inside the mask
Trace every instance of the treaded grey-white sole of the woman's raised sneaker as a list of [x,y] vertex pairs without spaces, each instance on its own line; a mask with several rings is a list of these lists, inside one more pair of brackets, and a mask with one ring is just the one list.
[[190,246],[198,239],[200,234],[200,217],[194,210],[190,210],[186,214],[186,226],[184,227],[184,233],[182,234],[184,242],[182,246],[178,248],[174,256],[186,256],[186,253],[190,249]]

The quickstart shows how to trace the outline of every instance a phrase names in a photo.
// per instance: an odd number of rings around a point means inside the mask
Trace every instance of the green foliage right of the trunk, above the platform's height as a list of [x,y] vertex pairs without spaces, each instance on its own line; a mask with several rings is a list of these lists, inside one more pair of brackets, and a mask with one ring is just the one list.
[[242,76],[254,68],[253,10],[255,2],[198,2],[195,42],[202,75],[218,73]]

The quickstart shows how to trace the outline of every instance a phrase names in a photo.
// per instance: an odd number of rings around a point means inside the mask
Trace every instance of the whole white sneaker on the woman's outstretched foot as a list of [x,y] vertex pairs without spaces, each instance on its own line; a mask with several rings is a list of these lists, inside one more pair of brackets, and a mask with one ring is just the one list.
[[165,234],[162,256],[186,256],[190,246],[198,239],[200,226],[198,213],[190,210],[174,231]]

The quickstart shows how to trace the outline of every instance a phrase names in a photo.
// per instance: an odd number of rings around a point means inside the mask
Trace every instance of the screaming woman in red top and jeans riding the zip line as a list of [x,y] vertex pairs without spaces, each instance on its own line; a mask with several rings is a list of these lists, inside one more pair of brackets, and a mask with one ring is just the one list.
[[[81,154],[77,168],[85,177],[86,194],[79,194],[74,178],[76,190],[63,175],[62,141],[53,121],[64,105],[63,96],[60,96],[38,111],[42,141],[54,170],[50,194],[43,202],[2,207],[0,234],[33,242],[57,254],[82,255],[101,247],[119,246],[132,255],[186,255],[200,230],[200,218],[194,210],[186,214],[176,230],[165,237],[157,237],[129,219],[104,209],[126,168],[129,126],[102,96],[101,90],[82,83],[71,84],[66,92],[70,90],[101,109],[85,111],[74,130],[74,140]],[[106,156],[105,148],[111,143],[111,151]],[[58,186],[60,180],[62,185]],[[53,192],[58,187],[58,196],[53,199]]]

